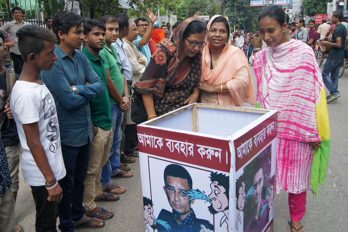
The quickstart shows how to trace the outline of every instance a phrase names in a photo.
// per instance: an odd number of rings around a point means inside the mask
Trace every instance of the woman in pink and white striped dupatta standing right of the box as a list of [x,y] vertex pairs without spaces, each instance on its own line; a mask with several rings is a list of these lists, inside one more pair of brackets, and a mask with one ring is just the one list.
[[258,81],[256,108],[278,110],[276,193],[284,189],[289,194],[292,232],[305,232],[300,221],[306,212],[306,191],[317,192],[317,185],[312,183],[313,154],[327,144],[330,152],[323,80],[313,50],[286,36],[286,14],[282,7],[263,8],[259,28],[268,48],[254,57]]

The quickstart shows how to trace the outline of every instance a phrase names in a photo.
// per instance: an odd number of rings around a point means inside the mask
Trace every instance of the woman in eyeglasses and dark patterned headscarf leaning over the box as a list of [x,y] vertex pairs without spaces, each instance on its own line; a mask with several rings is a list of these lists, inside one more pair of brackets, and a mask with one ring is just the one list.
[[174,30],[172,46],[161,46],[135,84],[142,94],[148,120],[197,101],[201,52],[207,26],[188,18]]

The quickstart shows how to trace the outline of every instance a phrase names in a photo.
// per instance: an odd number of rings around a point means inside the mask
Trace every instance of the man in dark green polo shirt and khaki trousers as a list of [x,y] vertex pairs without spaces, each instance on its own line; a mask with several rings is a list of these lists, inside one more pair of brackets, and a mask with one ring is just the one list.
[[113,217],[113,212],[97,207],[95,201],[117,201],[119,196],[105,193],[101,190],[100,176],[102,167],[108,161],[112,142],[112,121],[110,111],[109,92],[106,82],[104,61],[99,52],[104,48],[105,25],[99,20],[88,20],[84,24],[86,47],[82,48],[93,70],[104,83],[104,92],[89,102],[92,120],[93,139],[88,163],[87,177],[84,181],[84,206],[86,215],[100,219]]

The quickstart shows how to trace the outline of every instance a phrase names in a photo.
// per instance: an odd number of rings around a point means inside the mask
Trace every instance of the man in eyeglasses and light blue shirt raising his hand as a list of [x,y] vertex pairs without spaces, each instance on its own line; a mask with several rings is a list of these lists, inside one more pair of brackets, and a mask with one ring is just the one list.
[[157,19],[157,13],[154,15],[152,13],[152,8],[147,8],[146,15],[150,18],[150,22],[146,18],[136,18],[134,23],[137,26],[139,31],[139,35],[136,40],[134,40],[134,45],[138,48],[138,50],[146,56],[148,61],[151,59],[151,52],[149,48],[149,40],[152,34],[153,24]]

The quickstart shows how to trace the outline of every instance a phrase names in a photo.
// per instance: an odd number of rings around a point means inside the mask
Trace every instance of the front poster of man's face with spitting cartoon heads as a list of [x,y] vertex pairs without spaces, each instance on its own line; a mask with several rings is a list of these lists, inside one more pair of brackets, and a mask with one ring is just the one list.
[[[227,232],[228,217],[224,216],[229,209],[227,174],[149,158],[151,184],[146,197],[152,200],[151,204],[144,203],[145,223],[151,228],[154,224],[158,232],[195,231],[192,228]],[[226,223],[220,227],[224,220]],[[185,225],[191,229],[187,230]]]

